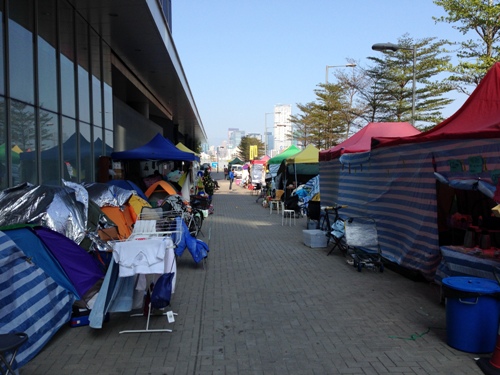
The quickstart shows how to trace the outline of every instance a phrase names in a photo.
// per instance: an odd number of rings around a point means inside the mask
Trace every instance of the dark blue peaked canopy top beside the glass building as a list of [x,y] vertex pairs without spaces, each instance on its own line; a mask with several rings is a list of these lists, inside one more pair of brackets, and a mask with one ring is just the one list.
[[156,134],[152,140],[132,150],[111,153],[113,160],[194,161],[196,155],[179,150],[171,141]]

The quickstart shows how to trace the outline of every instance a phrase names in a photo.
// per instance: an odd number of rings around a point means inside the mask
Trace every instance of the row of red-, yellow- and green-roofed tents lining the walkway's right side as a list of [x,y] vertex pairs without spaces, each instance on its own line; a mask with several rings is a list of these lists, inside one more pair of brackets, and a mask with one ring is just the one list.
[[434,280],[440,247],[463,243],[463,231],[457,238],[450,227],[453,215],[500,229],[492,212],[500,202],[499,87],[496,63],[463,106],[429,131],[369,123],[328,150],[290,146],[268,160],[269,171],[278,189],[317,176],[322,206],[342,204],[344,218],[372,218],[383,257]]

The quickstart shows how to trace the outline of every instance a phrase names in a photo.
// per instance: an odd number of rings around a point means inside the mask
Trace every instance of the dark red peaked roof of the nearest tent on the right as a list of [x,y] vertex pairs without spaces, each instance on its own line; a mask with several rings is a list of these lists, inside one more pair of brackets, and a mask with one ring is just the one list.
[[442,139],[500,137],[500,63],[495,63],[462,107],[433,129],[407,138],[377,137],[376,147]]

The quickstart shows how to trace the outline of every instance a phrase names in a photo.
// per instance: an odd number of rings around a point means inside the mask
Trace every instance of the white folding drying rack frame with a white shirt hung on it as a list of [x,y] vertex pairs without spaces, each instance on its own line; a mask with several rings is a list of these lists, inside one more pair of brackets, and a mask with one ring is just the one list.
[[[176,247],[181,241],[182,236],[182,213],[177,211],[163,211],[161,208],[144,207],[137,218],[132,234],[127,241],[140,241],[149,239],[161,239],[161,237],[170,238]],[[175,262],[175,257],[174,260]],[[156,283],[156,281],[155,281]],[[120,331],[123,333],[156,333],[156,332],[172,332],[171,329],[150,329],[149,321],[153,316],[167,316],[169,322],[173,322],[173,316],[177,315],[172,311],[167,311],[161,314],[153,314],[151,302],[149,303],[147,313],[147,321],[145,329],[134,329]],[[142,317],[144,314],[132,314],[131,317]]]

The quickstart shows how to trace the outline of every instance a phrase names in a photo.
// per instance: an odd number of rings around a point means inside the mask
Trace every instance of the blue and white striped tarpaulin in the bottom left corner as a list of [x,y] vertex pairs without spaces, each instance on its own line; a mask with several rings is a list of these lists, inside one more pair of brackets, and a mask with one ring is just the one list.
[[71,292],[26,260],[14,241],[0,232],[0,333],[25,332],[29,336],[16,356],[19,367],[69,322],[74,303]]

